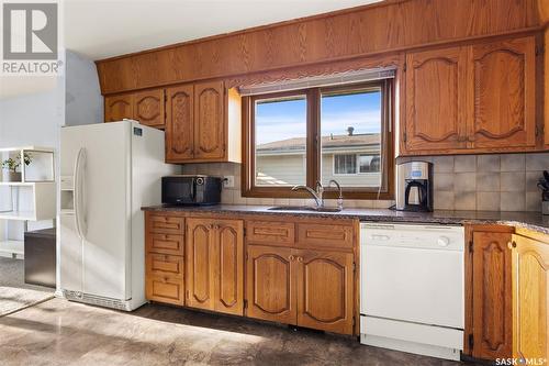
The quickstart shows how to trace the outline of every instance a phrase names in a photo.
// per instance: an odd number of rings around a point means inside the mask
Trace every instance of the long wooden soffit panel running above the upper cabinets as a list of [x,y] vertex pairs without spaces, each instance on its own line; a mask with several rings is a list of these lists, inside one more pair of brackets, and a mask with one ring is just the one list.
[[[384,1],[105,58],[96,64],[101,91],[109,95],[539,32],[545,25],[541,12],[539,0],[472,0],[459,4],[446,0]],[[399,26],[392,24],[395,20]]]

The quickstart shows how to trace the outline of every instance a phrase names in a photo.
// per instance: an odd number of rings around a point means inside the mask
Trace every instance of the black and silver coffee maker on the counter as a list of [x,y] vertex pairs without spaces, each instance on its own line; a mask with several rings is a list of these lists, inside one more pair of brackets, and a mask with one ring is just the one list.
[[396,165],[396,210],[433,211],[433,164]]

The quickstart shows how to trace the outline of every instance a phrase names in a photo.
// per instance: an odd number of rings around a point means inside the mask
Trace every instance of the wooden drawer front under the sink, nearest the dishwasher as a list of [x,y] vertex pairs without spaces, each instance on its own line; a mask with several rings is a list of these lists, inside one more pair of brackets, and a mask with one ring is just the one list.
[[298,242],[306,246],[352,248],[352,226],[299,223]]

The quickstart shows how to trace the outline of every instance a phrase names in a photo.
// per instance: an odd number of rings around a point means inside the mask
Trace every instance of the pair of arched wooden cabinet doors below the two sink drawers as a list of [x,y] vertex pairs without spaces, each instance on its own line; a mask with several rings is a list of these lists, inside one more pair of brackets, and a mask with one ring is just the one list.
[[247,315],[352,334],[352,253],[249,245]]

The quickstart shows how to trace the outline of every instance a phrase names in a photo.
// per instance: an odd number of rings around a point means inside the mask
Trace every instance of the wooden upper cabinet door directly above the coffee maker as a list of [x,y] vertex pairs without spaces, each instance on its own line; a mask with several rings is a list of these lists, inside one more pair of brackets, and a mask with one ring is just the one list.
[[467,147],[466,73],[461,47],[406,55],[406,152]]

